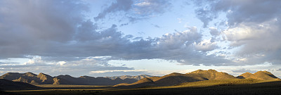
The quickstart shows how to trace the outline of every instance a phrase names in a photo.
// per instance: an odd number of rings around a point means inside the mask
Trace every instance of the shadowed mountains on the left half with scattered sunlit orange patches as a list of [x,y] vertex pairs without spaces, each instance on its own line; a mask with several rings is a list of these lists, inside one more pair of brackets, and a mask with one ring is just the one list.
[[83,84],[83,85],[115,85],[120,83],[133,83],[138,80],[134,79],[120,79],[111,80],[105,77],[72,77],[70,75],[59,75],[56,77],[51,77],[44,73],[39,73],[36,75],[32,72],[18,73],[18,72],[8,72],[2,76],[0,79],[12,80],[13,82],[25,82],[30,84]]

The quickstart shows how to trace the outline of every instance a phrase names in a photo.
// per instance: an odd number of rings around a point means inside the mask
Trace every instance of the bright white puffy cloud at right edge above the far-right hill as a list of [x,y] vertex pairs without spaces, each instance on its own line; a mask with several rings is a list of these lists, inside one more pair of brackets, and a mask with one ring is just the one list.
[[[247,23],[246,23],[247,24]],[[267,22],[251,25],[237,25],[223,31],[230,46],[240,46],[237,56],[248,58],[247,63],[280,63],[281,44],[279,40],[280,21],[268,20]]]

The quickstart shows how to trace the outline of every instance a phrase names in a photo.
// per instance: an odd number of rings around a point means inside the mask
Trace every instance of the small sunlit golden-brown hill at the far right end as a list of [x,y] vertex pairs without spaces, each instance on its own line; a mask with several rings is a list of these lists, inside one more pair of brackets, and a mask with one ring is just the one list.
[[245,72],[242,75],[239,75],[238,78],[240,79],[256,79],[256,80],[280,80],[279,78],[275,77],[272,73],[268,71],[259,71],[254,74],[251,74],[250,72]]

